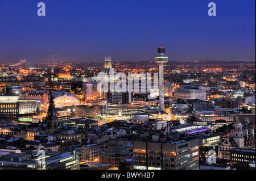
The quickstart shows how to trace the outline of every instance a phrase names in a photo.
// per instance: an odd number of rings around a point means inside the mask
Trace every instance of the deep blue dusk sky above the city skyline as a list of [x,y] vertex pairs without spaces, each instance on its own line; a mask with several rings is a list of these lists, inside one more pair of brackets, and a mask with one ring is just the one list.
[[153,60],[158,47],[170,61],[255,60],[255,1],[0,0],[0,63]]

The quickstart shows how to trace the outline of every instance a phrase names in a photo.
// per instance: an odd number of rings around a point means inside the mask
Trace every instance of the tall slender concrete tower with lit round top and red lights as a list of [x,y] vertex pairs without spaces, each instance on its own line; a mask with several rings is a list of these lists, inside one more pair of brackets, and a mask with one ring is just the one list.
[[159,108],[164,110],[164,77],[163,77],[163,64],[168,62],[168,57],[164,56],[166,49],[158,48],[159,56],[155,57],[155,62],[159,64]]

